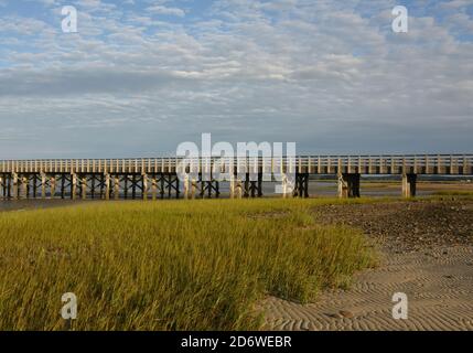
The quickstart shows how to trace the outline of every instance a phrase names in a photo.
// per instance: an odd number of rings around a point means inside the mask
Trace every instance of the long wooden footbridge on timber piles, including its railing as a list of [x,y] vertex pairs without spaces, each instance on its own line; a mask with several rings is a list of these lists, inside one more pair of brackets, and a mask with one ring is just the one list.
[[[218,197],[227,171],[230,197],[262,196],[278,180],[282,195],[309,196],[310,175],[334,174],[340,197],[359,197],[362,174],[402,175],[402,195],[416,195],[418,174],[471,175],[473,154],[298,156],[294,158],[146,158],[0,161],[0,197],[184,199]],[[190,173],[182,176],[183,173]],[[217,173],[218,172],[218,173]]]

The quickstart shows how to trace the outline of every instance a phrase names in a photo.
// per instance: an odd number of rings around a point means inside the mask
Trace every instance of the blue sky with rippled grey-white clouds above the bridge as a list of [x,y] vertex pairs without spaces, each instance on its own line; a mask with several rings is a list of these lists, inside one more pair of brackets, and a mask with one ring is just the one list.
[[0,0],[0,159],[173,154],[205,132],[473,152],[472,17],[473,0]]

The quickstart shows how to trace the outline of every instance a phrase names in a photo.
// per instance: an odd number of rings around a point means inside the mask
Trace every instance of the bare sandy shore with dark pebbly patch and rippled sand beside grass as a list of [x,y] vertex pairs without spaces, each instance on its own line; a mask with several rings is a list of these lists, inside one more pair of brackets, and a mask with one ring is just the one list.
[[[315,212],[326,223],[362,228],[377,244],[381,261],[356,275],[348,290],[326,290],[315,303],[267,298],[261,303],[266,329],[473,330],[473,201]],[[395,292],[408,296],[407,320],[393,318]]]

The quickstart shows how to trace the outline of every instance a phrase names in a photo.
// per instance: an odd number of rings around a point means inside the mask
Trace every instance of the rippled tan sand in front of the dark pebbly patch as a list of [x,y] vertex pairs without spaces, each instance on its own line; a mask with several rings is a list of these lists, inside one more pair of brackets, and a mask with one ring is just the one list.
[[[350,290],[326,291],[316,303],[266,299],[266,329],[473,330],[472,261],[473,246],[386,254],[384,264],[356,276]],[[408,320],[393,319],[395,292],[408,296]]]

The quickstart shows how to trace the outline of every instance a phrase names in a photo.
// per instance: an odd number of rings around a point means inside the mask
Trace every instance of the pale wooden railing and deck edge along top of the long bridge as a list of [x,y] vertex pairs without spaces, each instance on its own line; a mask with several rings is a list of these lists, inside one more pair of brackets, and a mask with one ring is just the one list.
[[[182,158],[3,160],[0,173],[174,173]],[[298,156],[295,158],[193,158],[186,170],[311,174],[472,174],[473,154]]]

